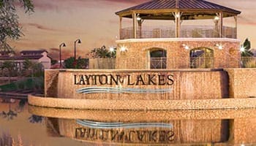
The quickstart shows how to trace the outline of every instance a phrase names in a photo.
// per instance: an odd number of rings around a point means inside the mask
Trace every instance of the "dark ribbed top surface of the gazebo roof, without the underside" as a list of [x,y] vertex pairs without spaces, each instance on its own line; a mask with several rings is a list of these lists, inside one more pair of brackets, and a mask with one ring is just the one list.
[[[178,1],[178,2],[176,2]],[[178,4],[178,5],[176,5]],[[214,4],[204,0],[152,0],[143,4],[139,4],[135,7],[116,12],[116,15],[122,12],[129,12],[132,10],[148,10],[148,9],[198,9],[198,10],[221,10],[225,12],[231,12],[233,14],[240,14],[241,12],[236,9]]]

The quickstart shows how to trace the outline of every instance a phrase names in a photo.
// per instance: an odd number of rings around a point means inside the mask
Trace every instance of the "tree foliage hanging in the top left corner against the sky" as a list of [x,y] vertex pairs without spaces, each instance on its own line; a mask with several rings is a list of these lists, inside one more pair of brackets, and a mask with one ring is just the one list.
[[34,12],[31,0],[0,0],[0,44],[7,39],[19,39],[23,34],[18,22],[17,1],[25,9],[25,13]]

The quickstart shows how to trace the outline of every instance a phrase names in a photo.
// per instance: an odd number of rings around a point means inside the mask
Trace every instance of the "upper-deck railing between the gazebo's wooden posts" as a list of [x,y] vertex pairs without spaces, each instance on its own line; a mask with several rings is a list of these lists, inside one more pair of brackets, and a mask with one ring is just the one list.
[[[175,27],[142,27],[141,31],[137,30],[138,38],[174,38],[176,37]],[[219,32],[215,26],[181,26],[180,37],[194,38],[214,38],[219,37]],[[236,28],[223,26],[223,36],[225,38],[236,39]],[[132,39],[133,28],[122,28],[120,39]]]

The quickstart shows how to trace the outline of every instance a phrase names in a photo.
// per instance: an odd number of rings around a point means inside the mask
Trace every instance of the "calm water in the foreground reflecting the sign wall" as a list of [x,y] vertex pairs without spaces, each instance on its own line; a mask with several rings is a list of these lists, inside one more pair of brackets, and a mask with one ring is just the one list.
[[0,145],[256,145],[254,109],[64,110],[0,101]]

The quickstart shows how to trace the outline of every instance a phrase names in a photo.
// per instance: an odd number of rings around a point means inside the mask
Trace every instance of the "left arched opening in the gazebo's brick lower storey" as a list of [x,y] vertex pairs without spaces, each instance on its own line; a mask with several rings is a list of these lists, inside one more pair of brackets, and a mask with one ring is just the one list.
[[161,47],[146,49],[147,69],[166,69],[167,50]]

